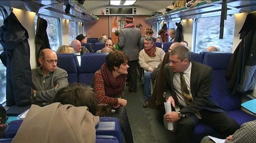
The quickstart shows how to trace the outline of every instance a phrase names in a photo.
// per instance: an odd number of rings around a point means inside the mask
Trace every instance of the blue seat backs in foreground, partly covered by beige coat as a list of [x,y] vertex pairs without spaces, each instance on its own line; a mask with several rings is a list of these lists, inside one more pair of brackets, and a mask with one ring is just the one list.
[[[23,120],[14,120],[8,124],[0,143],[10,143],[17,134]],[[96,143],[123,143],[121,126],[118,119],[100,117],[96,126]]]

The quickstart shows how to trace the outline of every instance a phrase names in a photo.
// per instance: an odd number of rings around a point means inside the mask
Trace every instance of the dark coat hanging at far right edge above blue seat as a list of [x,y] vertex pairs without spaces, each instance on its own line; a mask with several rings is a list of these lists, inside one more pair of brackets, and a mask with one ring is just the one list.
[[253,90],[256,82],[256,15],[250,13],[240,30],[242,39],[226,69],[228,88],[232,94],[237,92],[245,93]]

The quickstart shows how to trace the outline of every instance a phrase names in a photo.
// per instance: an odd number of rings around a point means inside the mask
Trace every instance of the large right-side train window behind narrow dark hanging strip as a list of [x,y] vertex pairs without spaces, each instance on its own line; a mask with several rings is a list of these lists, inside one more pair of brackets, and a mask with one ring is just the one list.
[[195,53],[206,51],[206,48],[211,45],[219,47],[220,51],[232,52],[235,29],[234,15],[227,16],[227,20],[224,21],[223,39],[219,39],[220,16],[196,19],[195,26]]

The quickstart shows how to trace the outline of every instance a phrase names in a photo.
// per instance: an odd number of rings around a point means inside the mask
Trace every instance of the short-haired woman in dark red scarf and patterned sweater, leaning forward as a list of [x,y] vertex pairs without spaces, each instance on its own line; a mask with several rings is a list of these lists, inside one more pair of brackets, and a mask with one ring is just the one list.
[[119,114],[118,118],[124,133],[126,143],[133,143],[132,130],[124,106],[127,100],[124,96],[124,87],[129,58],[123,52],[114,50],[106,57],[106,63],[95,72],[93,78],[94,92],[99,103],[107,103]]

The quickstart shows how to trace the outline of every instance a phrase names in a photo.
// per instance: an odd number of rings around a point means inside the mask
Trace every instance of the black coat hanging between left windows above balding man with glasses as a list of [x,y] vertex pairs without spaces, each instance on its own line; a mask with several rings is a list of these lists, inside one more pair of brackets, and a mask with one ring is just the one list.
[[[39,53],[41,50],[51,48],[46,29],[47,21],[38,16],[36,26],[36,59],[39,58]],[[39,65],[38,61],[37,64]]]

